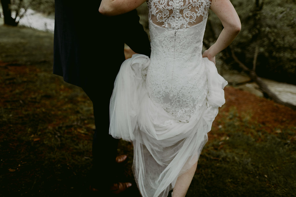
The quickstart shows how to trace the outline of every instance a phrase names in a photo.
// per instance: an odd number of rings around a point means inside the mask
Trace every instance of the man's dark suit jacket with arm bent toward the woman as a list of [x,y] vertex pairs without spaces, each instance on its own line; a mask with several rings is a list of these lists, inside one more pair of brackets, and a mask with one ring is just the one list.
[[55,1],[53,73],[80,87],[113,85],[125,60],[124,43],[136,53],[151,52],[136,10],[106,17],[99,5],[97,0]]

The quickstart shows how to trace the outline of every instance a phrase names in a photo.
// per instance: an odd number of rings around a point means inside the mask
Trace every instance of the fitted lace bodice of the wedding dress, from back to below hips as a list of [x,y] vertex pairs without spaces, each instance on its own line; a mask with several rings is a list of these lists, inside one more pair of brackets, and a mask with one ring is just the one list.
[[210,1],[149,0],[149,96],[178,121],[196,117],[207,95],[202,39]]

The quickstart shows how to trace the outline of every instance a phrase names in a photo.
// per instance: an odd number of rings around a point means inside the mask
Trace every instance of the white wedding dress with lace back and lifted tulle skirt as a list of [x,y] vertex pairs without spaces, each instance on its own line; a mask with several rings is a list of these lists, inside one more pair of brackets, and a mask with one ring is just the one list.
[[123,62],[110,100],[110,134],[132,141],[141,195],[166,197],[207,142],[227,82],[202,58],[208,0],[149,0],[151,58]]

